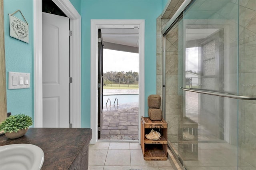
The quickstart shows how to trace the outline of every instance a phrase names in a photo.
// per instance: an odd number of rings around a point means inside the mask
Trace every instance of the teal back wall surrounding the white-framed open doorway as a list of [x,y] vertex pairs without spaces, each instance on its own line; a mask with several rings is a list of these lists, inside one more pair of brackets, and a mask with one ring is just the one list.
[[147,98],[156,93],[156,18],[162,12],[161,0],[82,0],[82,90],[81,126],[90,127],[90,20],[145,20],[145,115]]

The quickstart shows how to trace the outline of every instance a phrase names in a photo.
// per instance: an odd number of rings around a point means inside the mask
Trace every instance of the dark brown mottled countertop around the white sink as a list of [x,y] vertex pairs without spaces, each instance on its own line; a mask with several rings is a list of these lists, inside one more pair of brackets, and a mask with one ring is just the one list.
[[67,170],[92,138],[90,128],[30,128],[17,139],[0,136],[0,146],[7,144],[34,144],[44,151],[42,170]]

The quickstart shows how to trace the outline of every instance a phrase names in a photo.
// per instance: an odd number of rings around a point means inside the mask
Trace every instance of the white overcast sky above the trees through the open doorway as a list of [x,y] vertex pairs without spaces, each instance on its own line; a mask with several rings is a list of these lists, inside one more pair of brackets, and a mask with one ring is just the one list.
[[111,49],[103,50],[103,72],[107,71],[139,71],[139,54]]

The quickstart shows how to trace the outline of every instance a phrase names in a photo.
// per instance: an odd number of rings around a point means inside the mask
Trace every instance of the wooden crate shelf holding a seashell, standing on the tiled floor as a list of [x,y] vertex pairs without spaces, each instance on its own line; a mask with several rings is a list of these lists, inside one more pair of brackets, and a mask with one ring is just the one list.
[[[141,149],[144,160],[167,160],[167,123],[161,121],[151,121],[148,117],[141,117]],[[151,129],[160,131],[160,140],[148,140],[145,137]]]

